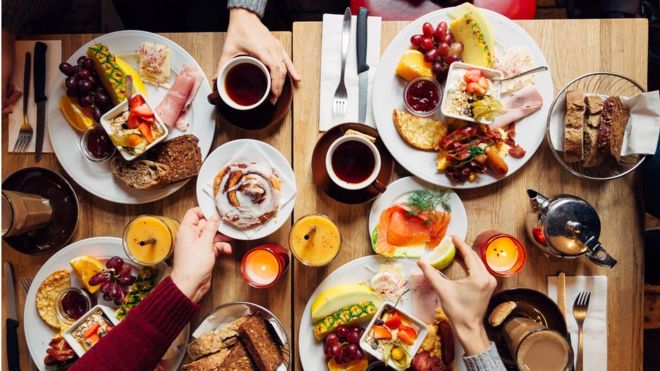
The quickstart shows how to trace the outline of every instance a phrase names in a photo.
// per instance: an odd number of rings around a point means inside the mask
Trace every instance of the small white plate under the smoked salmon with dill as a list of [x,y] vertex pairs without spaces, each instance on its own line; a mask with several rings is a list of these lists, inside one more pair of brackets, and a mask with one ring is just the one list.
[[[383,211],[394,204],[406,202],[410,192],[424,188],[434,189],[437,187],[413,176],[401,178],[390,183],[385,193],[380,195],[371,206],[371,212],[369,213],[369,239],[371,240],[371,234],[376,226],[378,226],[380,214]],[[445,191],[449,194],[449,206],[451,207],[451,220],[449,221],[446,235],[451,236],[455,234],[464,240],[467,235],[467,214],[465,213],[465,207],[463,207],[463,202],[461,202],[460,197],[454,191],[451,189],[445,189]],[[437,210],[444,211],[442,208],[438,208]],[[430,251],[426,248],[422,249],[424,250],[423,253]]]

